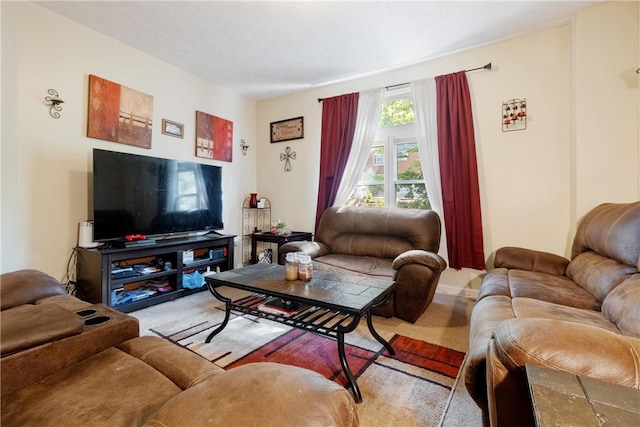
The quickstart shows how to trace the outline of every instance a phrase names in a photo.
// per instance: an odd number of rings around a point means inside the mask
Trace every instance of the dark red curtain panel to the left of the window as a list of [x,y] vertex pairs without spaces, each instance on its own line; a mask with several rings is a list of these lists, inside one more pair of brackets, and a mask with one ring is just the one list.
[[322,212],[336,200],[340,180],[349,159],[358,115],[358,93],[322,100],[322,136],[320,138],[320,180],[316,226]]

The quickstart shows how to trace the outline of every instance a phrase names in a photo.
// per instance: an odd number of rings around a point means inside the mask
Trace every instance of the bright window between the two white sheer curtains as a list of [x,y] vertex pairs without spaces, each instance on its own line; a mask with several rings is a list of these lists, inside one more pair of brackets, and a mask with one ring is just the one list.
[[351,203],[431,209],[413,123],[408,91],[383,101],[375,142]]

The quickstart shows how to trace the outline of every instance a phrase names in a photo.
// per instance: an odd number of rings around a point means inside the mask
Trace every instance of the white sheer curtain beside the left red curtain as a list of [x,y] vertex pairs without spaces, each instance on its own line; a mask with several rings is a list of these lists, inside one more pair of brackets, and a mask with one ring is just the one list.
[[373,139],[380,120],[380,105],[383,94],[384,88],[360,92],[353,144],[351,145],[349,160],[347,160],[333,206],[346,205],[349,197],[356,189],[356,184],[360,179],[360,174],[367,163],[369,152],[373,146]]

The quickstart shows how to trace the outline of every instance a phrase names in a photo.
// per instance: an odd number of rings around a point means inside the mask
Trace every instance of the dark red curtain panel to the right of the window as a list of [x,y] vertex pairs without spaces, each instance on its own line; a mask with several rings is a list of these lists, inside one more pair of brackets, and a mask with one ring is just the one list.
[[438,152],[449,266],[485,269],[476,143],[464,71],[436,77]]

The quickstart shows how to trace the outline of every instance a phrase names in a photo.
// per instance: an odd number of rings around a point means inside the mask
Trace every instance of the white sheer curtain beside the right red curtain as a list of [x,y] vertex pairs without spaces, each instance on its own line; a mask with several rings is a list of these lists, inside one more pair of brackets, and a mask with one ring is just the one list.
[[422,173],[424,174],[431,209],[440,215],[440,223],[442,224],[438,255],[444,258],[448,264],[447,234],[444,226],[440,161],[438,157],[435,78],[432,77],[411,82],[411,93],[413,96],[416,139],[418,142],[418,152],[420,153],[420,163],[422,163]]

